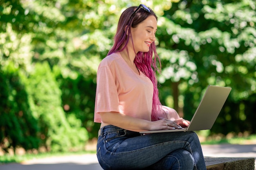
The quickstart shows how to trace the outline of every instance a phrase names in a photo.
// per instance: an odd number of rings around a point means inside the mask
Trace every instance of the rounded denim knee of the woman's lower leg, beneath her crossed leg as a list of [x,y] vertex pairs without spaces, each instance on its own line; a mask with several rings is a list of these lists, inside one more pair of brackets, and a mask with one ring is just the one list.
[[163,159],[145,168],[150,170],[193,170],[194,159],[190,152],[178,149],[166,155]]

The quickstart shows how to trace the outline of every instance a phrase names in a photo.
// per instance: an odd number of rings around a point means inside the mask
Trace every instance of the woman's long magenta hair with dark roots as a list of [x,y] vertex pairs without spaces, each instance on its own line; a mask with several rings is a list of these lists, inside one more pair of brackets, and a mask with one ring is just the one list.
[[[127,50],[127,44],[129,41],[129,35],[131,34],[131,27],[135,28],[139,23],[144,21],[146,18],[148,18],[149,15],[155,16],[157,19],[157,16],[155,13],[150,9],[150,12],[145,11],[144,9],[140,8],[137,13],[133,16],[132,19],[130,19],[132,13],[135,11],[137,7],[129,7],[126,9],[120,16],[119,22],[117,25],[117,33],[115,35],[115,43],[108,52],[108,55],[123,51],[124,49]],[[121,48],[121,49],[120,49]],[[128,52],[128,51],[127,51]],[[153,58],[153,53],[155,57]],[[158,109],[159,105],[161,105],[158,97],[158,89],[157,89],[157,79],[155,76],[156,70],[159,71],[157,68],[157,60],[159,62],[159,68],[161,69],[161,62],[157,55],[155,42],[153,42],[150,45],[149,51],[146,53],[138,52],[134,63],[137,66],[137,68],[143,72],[153,83],[154,91],[153,91],[153,103],[152,103],[152,113],[151,113],[151,119],[152,121],[158,120]]]

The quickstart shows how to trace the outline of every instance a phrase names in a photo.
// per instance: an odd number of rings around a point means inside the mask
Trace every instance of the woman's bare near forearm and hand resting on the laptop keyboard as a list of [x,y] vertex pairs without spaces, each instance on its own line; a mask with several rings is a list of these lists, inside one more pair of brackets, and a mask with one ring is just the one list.
[[[105,124],[111,124],[123,129],[129,130],[163,130],[181,128],[175,121],[168,119],[161,119],[158,121],[147,121],[138,119],[122,113],[117,112],[101,112],[101,120]],[[168,126],[167,126],[168,124]]]

